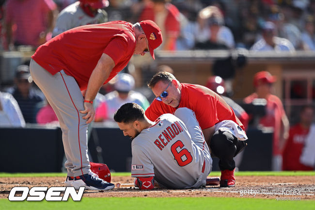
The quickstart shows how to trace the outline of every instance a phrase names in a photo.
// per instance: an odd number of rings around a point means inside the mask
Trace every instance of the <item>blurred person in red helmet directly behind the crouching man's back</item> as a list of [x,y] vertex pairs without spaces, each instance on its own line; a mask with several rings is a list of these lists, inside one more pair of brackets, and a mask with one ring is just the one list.
[[205,86],[209,88],[210,90],[219,94],[224,99],[224,101],[233,109],[236,117],[244,125],[245,130],[247,130],[249,116],[245,112],[245,110],[241,106],[239,106],[234,100],[232,100],[229,97],[224,96],[225,85],[224,85],[223,79],[219,76],[209,77]]

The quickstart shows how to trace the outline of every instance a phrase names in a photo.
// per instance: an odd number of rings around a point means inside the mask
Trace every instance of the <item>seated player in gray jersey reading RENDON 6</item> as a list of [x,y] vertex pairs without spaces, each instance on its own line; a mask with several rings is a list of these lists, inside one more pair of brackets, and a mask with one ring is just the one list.
[[212,168],[209,148],[194,112],[179,108],[150,121],[141,106],[126,103],[114,120],[131,139],[131,177],[140,189],[199,188]]

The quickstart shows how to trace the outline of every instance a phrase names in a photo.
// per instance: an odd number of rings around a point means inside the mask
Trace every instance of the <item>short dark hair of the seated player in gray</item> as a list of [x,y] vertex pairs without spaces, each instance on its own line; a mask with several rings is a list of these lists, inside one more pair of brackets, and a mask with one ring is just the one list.
[[126,103],[115,112],[114,120],[118,123],[142,121],[144,120],[144,110],[136,103]]

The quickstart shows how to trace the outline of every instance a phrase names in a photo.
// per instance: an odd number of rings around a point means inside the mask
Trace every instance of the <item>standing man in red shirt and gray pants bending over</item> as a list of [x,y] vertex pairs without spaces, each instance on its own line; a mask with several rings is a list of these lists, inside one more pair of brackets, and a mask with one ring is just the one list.
[[63,130],[66,186],[90,190],[114,187],[90,170],[86,134],[95,114],[93,100],[100,87],[118,74],[132,55],[150,52],[154,59],[153,50],[161,43],[161,31],[151,20],[134,25],[113,21],[63,32],[37,48],[31,57],[31,76]]

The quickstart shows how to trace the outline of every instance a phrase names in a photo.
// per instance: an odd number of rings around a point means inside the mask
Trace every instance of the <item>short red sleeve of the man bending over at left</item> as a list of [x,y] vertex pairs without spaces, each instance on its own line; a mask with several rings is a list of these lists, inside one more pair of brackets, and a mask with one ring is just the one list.
[[114,38],[104,49],[103,53],[110,56],[110,58],[115,62],[115,65],[117,65],[120,60],[124,58],[124,52],[127,52],[128,50],[129,49],[126,41],[120,38]]

